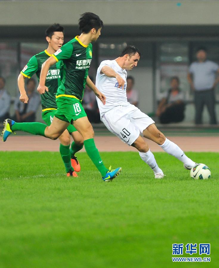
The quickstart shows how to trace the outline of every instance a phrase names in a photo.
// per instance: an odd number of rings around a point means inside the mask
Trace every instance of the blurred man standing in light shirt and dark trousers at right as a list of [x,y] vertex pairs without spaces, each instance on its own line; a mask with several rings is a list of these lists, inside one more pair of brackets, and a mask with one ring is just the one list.
[[[215,115],[214,87],[219,81],[219,66],[217,63],[207,60],[205,48],[199,48],[196,53],[197,60],[190,65],[188,81],[195,91],[195,124],[202,124],[202,112],[207,106],[210,115],[210,124],[217,124]],[[216,78],[216,79],[215,79]]]

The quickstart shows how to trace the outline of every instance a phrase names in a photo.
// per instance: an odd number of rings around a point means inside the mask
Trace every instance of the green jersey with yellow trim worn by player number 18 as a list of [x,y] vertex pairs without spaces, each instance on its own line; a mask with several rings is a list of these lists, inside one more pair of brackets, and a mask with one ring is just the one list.
[[52,57],[63,61],[63,77],[56,98],[83,99],[88,70],[92,59],[92,44],[84,45],[76,36],[55,52]]

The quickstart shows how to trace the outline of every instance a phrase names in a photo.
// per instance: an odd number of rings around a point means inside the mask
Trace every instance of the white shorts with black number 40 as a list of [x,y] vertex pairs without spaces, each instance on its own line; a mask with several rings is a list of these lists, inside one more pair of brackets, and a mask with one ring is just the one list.
[[142,113],[136,106],[118,106],[106,112],[101,121],[110,132],[117,135],[129,146],[139,137],[143,131],[155,123],[149,116]]

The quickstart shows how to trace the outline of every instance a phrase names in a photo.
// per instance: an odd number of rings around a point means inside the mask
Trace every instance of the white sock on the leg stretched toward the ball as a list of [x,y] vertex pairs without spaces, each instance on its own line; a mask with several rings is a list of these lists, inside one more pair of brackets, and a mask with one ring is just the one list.
[[182,149],[178,147],[173,141],[170,141],[166,138],[162,145],[159,145],[165,152],[169,155],[175,156],[181,162],[185,164],[185,166],[192,168],[195,165],[195,162],[188,158]]

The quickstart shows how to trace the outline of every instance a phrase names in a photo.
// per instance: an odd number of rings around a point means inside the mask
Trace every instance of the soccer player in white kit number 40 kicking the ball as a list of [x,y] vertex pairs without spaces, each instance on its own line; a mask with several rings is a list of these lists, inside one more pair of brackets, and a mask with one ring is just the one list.
[[147,163],[155,174],[155,178],[164,177],[150,151],[144,136],[156,142],[165,152],[175,156],[184,163],[185,169],[191,169],[195,162],[172,141],[168,140],[155,126],[155,122],[127,101],[126,70],[137,66],[140,52],[135,46],[127,46],[115,60],[104,60],[97,69],[96,87],[106,96],[105,105],[97,98],[101,121],[109,131],[117,135],[129,146],[139,151],[141,159]]

